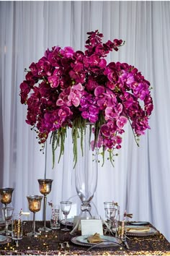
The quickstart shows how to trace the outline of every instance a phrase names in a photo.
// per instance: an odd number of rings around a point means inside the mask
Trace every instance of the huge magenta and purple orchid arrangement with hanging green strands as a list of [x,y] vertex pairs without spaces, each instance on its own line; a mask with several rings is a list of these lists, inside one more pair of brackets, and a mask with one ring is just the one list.
[[[64,152],[67,129],[72,129],[74,163],[77,139],[84,137],[89,124],[95,139],[91,147],[109,152],[121,148],[123,127],[129,121],[138,144],[138,137],[149,129],[153,111],[150,83],[138,69],[120,62],[107,64],[110,51],[118,51],[122,40],[102,43],[98,30],[87,33],[86,51],[54,46],[32,62],[20,85],[21,103],[27,105],[27,124],[37,132],[45,145],[51,135],[53,163],[55,149]],[[43,147],[42,147],[43,148]],[[60,159],[59,157],[59,159]]]

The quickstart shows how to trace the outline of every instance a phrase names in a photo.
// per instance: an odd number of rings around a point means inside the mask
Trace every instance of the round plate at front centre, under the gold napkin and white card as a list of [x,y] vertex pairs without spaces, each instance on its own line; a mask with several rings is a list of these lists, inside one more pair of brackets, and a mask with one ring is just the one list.
[[[78,244],[78,245],[82,245],[82,246],[92,246],[94,244],[96,244],[97,246],[96,247],[107,247],[107,246],[119,246],[119,244],[121,243],[120,242],[120,239],[117,239],[115,237],[112,237],[112,236],[100,236],[101,239],[104,239],[104,240],[107,240],[105,242],[102,242],[102,243],[89,243],[87,241],[87,237],[89,235],[86,235],[86,236],[75,236],[71,239],[71,242],[73,242],[73,244]],[[115,243],[115,244],[114,244]]]

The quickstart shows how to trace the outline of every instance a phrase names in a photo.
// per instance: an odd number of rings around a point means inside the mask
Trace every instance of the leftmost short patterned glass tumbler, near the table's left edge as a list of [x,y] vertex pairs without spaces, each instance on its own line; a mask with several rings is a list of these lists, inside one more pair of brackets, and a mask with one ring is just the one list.
[[12,215],[12,239],[21,240],[22,239],[22,218],[21,214],[14,213]]

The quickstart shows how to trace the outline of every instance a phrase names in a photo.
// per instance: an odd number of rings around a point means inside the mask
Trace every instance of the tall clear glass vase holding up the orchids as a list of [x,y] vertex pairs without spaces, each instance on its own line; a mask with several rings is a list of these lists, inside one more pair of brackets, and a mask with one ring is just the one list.
[[75,166],[76,192],[81,200],[80,217],[85,219],[92,218],[91,200],[97,189],[98,155],[97,149],[91,150],[91,144],[94,144],[93,136],[90,126],[87,125],[81,146],[78,145]]

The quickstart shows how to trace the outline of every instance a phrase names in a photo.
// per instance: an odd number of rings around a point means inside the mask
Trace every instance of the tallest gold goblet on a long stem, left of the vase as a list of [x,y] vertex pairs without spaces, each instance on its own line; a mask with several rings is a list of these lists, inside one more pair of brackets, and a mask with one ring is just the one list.
[[40,193],[44,195],[44,208],[43,208],[43,221],[44,221],[44,226],[43,228],[38,229],[39,231],[51,231],[51,229],[48,229],[46,227],[46,206],[47,206],[47,195],[51,192],[51,185],[53,182],[53,179],[38,179],[37,180],[39,183],[39,189]]

